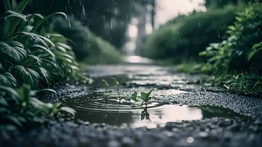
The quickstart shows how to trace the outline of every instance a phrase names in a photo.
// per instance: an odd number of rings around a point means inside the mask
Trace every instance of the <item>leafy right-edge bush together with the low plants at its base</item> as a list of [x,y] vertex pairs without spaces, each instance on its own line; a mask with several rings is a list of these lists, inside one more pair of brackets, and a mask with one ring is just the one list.
[[[241,93],[262,92],[262,4],[250,4],[229,26],[227,38],[200,53],[220,85]],[[226,76],[225,76],[226,75]]]

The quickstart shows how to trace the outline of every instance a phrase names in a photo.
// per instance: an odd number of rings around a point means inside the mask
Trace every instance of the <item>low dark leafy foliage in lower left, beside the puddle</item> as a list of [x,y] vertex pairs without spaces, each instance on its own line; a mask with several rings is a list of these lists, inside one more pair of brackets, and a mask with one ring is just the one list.
[[67,114],[75,115],[75,110],[63,107],[61,103],[43,103],[34,94],[35,91],[28,85],[17,90],[0,85],[0,126],[11,124],[18,128],[32,127],[63,118]]

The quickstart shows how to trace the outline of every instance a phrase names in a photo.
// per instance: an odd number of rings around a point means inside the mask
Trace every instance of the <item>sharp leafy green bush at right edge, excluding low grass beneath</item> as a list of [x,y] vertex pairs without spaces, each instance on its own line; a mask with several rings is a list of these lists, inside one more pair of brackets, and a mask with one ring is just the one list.
[[221,43],[210,44],[200,53],[209,58],[215,71],[253,71],[262,73],[262,4],[256,3],[238,14],[228,37]]

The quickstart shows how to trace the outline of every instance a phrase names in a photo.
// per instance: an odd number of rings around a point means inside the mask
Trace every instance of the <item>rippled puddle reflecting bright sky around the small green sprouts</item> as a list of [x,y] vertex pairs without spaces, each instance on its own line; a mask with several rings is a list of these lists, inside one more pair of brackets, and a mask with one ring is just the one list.
[[[177,92],[177,91],[172,91]],[[187,105],[166,104],[161,101],[149,101],[147,106],[142,102],[131,103],[108,98],[106,101],[101,94],[90,94],[86,98],[67,99],[66,106],[77,111],[77,119],[90,123],[107,123],[110,125],[127,125],[132,128],[163,127],[166,122],[182,120],[199,120],[203,118],[241,117],[230,109],[214,106],[190,107]]]

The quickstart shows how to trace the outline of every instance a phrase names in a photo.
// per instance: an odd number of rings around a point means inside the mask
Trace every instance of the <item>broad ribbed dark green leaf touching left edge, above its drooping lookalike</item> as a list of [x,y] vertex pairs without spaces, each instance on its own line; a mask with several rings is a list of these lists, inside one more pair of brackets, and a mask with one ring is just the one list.
[[23,61],[27,56],[24,45],[16,41],[12,41],[10,45],[0,42],[0,51],[17,62]]

